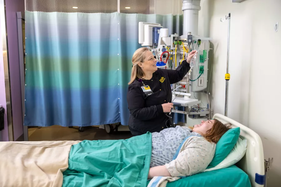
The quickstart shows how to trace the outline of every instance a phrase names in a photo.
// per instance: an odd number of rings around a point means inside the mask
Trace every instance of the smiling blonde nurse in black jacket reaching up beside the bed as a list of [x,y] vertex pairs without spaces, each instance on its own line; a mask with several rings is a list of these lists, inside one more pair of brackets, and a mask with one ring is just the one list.
[[187,74],[195,52],[191,51],[176,70],[166,70],[157,68],[157,60],[147,47],[135,51],[127,91],[129,129],[133,136],[170,127],[172,122],[168,116],[173,108],[170,84],[181,81]]

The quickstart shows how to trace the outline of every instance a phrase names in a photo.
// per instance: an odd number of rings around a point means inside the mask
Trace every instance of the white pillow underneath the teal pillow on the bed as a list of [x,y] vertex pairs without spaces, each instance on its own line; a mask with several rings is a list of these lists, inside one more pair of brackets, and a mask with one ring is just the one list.
[[204,172],[223,169],[223,168],[236,164],[238,161],[240,161],[243,158],[243,156],[246,153],[246,150],[247,150],[247,140],[242,140],[239,137],[238,141],[236,142],[235,146],[230,151],[228,156],[226,156],[225,159],[223,161],[221,161],[218,165],[216,165],[215,167],[206,169],[206,170],[204,170]]

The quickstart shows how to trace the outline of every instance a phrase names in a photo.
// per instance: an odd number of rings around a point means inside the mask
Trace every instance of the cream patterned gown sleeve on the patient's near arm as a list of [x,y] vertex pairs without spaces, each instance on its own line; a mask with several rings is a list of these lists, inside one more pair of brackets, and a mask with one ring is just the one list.
[[177,158],[165,164],[172,177],[189,176],[204,171],[214,157],[215,144],[203,137],[191,137]]

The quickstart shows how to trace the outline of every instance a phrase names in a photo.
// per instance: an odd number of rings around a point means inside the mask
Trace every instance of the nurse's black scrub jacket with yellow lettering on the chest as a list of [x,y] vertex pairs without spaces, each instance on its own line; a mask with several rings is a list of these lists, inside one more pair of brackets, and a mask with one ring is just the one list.
[[[133,135],[146,132],[160,132],[170,127],[172,119],[163,112],[162,104],[172,102],[171,84],[177,83],[190,70],[189,63],[184,60],[176,70],[159,69],[152,74],[150,80],[143,80],[153,94],[146,96],[142,91],[143,84],[136,79],[128,87],[127,102],[130,110],[129,128]],[[166,113],[169,115],[169,113]],[[170,120],[169,120],[170,119]]]

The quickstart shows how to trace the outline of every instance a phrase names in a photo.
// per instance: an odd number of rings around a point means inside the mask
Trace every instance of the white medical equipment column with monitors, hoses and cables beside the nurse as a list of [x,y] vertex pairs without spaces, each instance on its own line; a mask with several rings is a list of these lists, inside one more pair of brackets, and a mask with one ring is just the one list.
[[[198,12],[200,0],[183,0],[183,35],[171,34],[157,23],[139,22],[139,43],[148,46],[157,59],[157,67],[175,70],[192,50],[197,50],[196,58],[192,60],[191,70],[178,83],[171,85],[172,101],[175,106],[173,112],[188,115],[192,119],[206,119],[210,117],[210,108],[197,107],[201,103],[198,99],[190,98],[191,92],[199,92],[207,88],[209,41],[198,35]],[[192,63],[191,63],[192,64]]]

